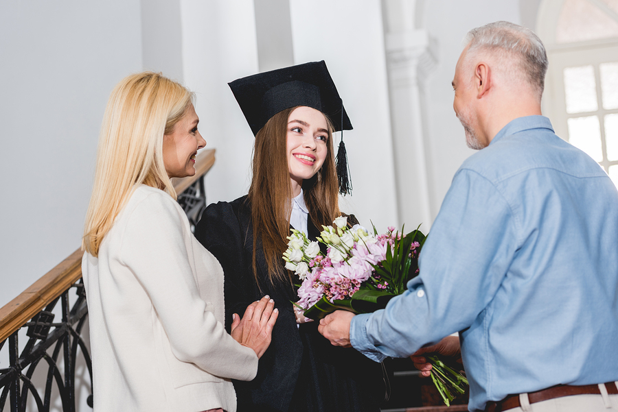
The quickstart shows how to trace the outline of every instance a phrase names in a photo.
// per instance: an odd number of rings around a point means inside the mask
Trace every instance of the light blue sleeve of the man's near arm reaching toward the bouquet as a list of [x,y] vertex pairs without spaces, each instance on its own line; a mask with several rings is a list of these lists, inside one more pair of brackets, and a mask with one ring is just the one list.
[[419,276],[385,309],[352,319],[352,346],[380,361],[470,327],[500,287],[517,244],[516,219],[502,193],[460,170],[423,245]]

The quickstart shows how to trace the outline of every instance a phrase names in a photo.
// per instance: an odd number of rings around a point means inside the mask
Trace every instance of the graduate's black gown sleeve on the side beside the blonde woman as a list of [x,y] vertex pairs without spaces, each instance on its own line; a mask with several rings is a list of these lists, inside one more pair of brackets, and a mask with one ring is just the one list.
[[[244,199],[238,199],[240,203]],[[240,206],[237,204],[237,206]],[[249,226],[240,223],[240,217],[231,203],[209,205],[195,228],[195,236],[213,254],[224,273],[225,327],[229,330],[232,314],[242,317],[245,309],[254,302],[255,279],[251,269],[253,234]],[[275,302],[276,304],[277,302]]]

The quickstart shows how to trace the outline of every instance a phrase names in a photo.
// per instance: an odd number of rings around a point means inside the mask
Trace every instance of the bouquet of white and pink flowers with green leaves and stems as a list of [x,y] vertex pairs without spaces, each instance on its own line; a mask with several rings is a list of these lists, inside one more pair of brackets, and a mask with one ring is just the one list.
[[[404,293],[407,282],[418,274],[418,254],[425,241],[418,228],[402,234],[390,226],[378,234],[374,227],[374,234],[369,234],[358,225],[349,228],[347,217],[333,223],[322,227],[317,241],[295,229],[288,237],[283,258],[286,269],[302,282],[295,305],[306,317],[318,320],[337,309],[371,313]],[[455,398],[452,392],[464,393],[468,380],[439,359],[428,359],[433,383],[448,406]]]

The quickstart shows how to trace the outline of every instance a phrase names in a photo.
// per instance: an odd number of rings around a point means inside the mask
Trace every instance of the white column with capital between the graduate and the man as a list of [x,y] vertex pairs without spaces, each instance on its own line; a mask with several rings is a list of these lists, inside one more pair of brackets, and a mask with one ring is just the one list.
[[420,79],[435,66],[435,60],[428,53],[426,30],[413,29],[415,2],[384,0],[382,5],[398,215],[408,229],[422,223],[422,230],[427,232],[433,219]]

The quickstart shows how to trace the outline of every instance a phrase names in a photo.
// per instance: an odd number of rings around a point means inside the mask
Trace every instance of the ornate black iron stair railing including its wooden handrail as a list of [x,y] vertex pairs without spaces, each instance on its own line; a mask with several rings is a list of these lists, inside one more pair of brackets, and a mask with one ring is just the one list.
[[[201,152],[196,159],[196,175],[174,181],[179,203],[192,224],[206,206],[202,178],[214,160],[214,149]],[[82,254],[76,250],[0,308],[0,352],[8,349],[8,367],[0,364],[0,412],[7,405],[10,412],[25,412],[27,408],[75,412],[76,390],[82,391],[76,385],[78,362],[87,372],[87,404],[92,407],[92,364],[87,337],[82,336],[88,317],[81,279]],[[60,319],[54,322],[57,317]],[[24,334],[27,341],[20,350]],[[40,365],[47,365],[42,376],[38,376]]]

